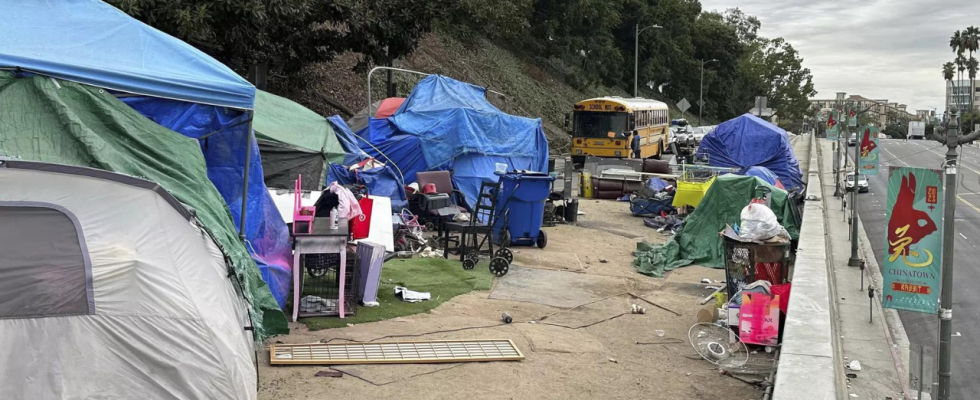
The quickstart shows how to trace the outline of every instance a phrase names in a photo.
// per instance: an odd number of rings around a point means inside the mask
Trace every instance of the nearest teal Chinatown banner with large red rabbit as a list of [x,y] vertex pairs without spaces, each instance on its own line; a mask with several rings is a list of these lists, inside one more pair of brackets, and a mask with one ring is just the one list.
[[939,171],[925,168],[889,170],[883,307],[926,314],[938,309],[943,247],[941,177]]

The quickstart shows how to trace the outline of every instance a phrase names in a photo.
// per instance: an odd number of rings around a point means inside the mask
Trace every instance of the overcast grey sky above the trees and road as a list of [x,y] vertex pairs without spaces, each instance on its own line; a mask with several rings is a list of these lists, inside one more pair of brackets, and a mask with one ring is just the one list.
[[[810,68],[818,98],[836,92],[945,106],[942,64],[953,31],[980,26],[980,0],[701,0],[706,11],[738,7],[784,37]],[[980,56],[975,56],[980,58]],[[964,79],[966,78],[964,73]]]

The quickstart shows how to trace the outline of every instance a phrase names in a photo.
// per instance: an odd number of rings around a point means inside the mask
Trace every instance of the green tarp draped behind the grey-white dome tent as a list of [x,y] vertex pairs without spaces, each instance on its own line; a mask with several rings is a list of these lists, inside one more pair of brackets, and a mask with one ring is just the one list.
[[252,304],[256,339],[288,332],[285,315],[208,180],[196,140],[157,125],[105,90],[0,72],[0,156],[156,182],[196,211],[231,261]]

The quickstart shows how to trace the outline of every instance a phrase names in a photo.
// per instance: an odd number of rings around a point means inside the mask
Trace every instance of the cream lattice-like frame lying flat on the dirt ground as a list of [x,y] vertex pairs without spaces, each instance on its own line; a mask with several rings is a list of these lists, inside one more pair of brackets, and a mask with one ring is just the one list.
[[495,339],[276,344],[269,357],[273,365],[345,365],[520,361],[524,354],[509,339]]

